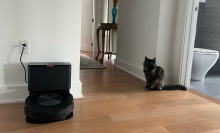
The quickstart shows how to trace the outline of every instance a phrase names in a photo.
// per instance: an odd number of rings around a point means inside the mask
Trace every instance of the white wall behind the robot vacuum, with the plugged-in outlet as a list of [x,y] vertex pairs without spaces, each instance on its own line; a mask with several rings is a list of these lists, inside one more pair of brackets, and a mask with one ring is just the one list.
[[[0,1],[0,102],[19,102],[27,95],[18,42],[30,40],[23,62],[70,62],[74,97],[82,97],[79,81],[81,1]],[[18,87],[19,86],[19,87]]]

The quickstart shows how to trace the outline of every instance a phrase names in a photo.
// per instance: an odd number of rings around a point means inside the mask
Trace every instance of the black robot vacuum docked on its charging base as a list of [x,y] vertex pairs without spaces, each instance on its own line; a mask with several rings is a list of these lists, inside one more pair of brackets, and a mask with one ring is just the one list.
[[28,123],[46,123],[70,119],[74,100],[70,63],[29,63],[28,91],[24,112]]

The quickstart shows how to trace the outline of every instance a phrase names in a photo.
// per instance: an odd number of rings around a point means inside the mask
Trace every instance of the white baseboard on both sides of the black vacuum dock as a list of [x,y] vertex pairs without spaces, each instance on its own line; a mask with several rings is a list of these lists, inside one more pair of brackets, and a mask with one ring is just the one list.
[[[83,98],[82,83],[80,81],[72,82],[70,93],[73,98]],[[0,104],[24,103],[28,97],[28,86],[0,86]]]

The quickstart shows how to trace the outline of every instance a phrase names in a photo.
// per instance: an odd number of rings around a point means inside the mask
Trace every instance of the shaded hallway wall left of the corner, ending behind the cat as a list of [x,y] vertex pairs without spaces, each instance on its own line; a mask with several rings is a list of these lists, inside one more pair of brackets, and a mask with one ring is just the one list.
[[144,79],[145,56],[156,57],[160,0],[120,0],[115,65]]

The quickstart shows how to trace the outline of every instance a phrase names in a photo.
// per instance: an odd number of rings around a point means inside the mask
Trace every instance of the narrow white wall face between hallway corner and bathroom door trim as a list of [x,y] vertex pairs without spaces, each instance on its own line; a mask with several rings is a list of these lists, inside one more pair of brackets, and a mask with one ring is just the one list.
[[156,58],[157,65],[165,71],[166,83],[172,82],[177,10],[177,0],[161,0]]

